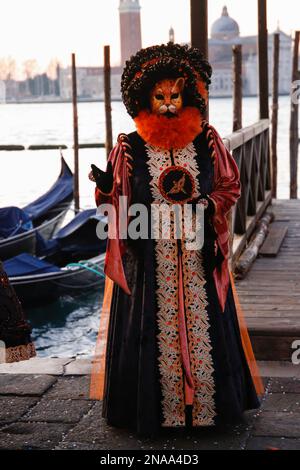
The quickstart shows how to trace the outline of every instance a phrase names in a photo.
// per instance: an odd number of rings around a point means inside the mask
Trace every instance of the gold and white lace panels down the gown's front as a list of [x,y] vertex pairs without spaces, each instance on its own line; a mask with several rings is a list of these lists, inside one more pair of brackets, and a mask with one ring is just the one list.
[[[155,204],[166,203],[159,190],[161,173],[172,165],[170,152],[146,145],[148,168],[152,177],[151,192]],[[193,143],[173,153],[176,165],[187,167],[195,179],[195,197],[200,195],[199,169]],[[173,237],[173,239],[172,239]],[[209,337],[209,319],[202,255],[186,250],[182,243],[185,310],[191,371],[195,383],[193,425],[214,424],[216,415],[213,361]],[[158,303],[159,370],[162,387],[162,426],[185,425],[184,376],[178,331],[178,247],[174,240],[174,217],[171,212],[171,239],[155,243]]]

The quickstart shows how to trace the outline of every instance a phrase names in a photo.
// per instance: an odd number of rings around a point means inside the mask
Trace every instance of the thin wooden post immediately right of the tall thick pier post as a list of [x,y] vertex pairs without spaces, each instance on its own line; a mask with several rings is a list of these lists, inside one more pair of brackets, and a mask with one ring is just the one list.
[[277,197],[277,130],[278,130],[278,83],[279,83],[280,34],[274,33],[273,87],[272,87],[272,197]]

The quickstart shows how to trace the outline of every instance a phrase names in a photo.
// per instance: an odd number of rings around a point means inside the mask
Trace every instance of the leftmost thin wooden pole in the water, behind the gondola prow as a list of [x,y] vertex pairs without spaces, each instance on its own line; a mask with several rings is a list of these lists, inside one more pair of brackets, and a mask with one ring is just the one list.
[[75,212],[79,212],[79,159],[78,159],[78,110],[77,110],[77,77],[76,58],[72,54],[72,103],[73,103],[73,147],[74,147],[74,203]]

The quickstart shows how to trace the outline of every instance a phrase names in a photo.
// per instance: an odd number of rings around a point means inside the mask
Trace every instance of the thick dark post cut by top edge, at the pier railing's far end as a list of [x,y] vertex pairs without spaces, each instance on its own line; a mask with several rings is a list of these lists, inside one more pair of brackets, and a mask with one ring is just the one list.
[[258,70],[260,119],[269,119],[267,0],[258,0]]

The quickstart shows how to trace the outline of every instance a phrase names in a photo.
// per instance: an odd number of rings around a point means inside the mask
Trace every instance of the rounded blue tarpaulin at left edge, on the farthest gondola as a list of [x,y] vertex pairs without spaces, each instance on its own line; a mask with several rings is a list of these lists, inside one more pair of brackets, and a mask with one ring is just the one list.
[[32,228],[27,211],[15,206],[0,209],[0,239],[18,235]]

